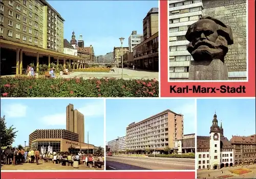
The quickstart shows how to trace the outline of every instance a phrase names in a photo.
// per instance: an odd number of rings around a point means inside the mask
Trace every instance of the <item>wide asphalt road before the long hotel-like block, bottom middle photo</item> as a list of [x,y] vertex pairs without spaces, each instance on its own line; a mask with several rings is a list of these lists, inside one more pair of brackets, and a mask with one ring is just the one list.
[[106,157],[106,170],[195,170],[195,160]]

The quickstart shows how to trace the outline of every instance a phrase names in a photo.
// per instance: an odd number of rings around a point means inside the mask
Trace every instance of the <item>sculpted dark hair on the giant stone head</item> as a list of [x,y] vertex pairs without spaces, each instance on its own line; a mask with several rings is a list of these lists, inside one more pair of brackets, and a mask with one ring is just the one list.
[[[232,36],[232,31],[231,28],[228,25],[225,25],[223,22],[221,22],[220,20],[210,17],[210,16],[202,16],[199,20],[202,19],[209,19],[214,21],[217,26],[217,33],[219,36],[225,37],[225,39],[227,40],[227,44],[228,45],[232,45],[233,44],[233,36]],[[195,32],[195,26],[197,25],[198,21],[189,25],[187,33],[185,35],[186,39],[191,42],[193,40],[193,33]]]

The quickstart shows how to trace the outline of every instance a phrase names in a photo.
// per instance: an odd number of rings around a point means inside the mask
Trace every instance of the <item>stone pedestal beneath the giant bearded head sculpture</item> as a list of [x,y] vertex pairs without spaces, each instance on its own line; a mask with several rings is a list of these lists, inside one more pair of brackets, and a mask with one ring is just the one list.
[[228,69],[219,59],[191,61],[188,80],[228,80]]

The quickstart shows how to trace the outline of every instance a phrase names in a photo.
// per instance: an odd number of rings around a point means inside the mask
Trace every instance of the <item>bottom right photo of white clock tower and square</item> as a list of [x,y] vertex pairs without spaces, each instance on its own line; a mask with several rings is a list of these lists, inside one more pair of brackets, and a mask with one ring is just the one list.
[[197,178],[256,178],[255,98],[197,99]]

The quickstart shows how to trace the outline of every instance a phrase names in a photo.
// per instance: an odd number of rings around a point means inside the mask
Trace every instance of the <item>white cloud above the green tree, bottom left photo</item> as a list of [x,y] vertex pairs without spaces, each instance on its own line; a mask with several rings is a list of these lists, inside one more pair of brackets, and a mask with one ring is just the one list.
[[4,108],[6,117],[26,117],[28,106],[22,104],[10,104]]

